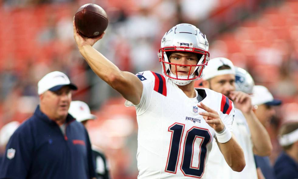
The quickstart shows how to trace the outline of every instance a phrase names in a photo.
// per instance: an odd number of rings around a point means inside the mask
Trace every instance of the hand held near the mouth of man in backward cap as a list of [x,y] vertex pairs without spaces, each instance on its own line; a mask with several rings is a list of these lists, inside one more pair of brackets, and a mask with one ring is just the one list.
[[248,113],[252,110],[251,97],[242,91],[231,91],[230,99],[236,108],[240,109],[243,113]]

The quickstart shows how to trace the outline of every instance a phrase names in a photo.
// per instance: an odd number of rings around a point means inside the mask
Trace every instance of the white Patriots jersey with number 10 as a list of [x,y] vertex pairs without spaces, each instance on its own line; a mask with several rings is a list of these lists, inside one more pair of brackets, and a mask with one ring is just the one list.
[[[206,161],[215,131],[199,115],[202,101],[217,111],[232,131],[234,107],[224,95],[198,88],[189,98],[172,82],[155,72],[136,74],[143,83],[138,122],[138,178],[205,178]],[[200,99],[201,98],[201,99]],[[131,103],[126,101],[126,106]]]

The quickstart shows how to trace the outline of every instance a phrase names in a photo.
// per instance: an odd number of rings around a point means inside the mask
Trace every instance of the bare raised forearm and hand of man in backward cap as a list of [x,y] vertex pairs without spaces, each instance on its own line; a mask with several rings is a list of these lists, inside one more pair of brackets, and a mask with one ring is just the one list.
[[272,144],[268,132],[252,111],[251,98],[241,91],[232,91],[230,97],[235,107],[244,115],[251,132],[254,145],[253,152],[259,156],[268,156],[272,151]]

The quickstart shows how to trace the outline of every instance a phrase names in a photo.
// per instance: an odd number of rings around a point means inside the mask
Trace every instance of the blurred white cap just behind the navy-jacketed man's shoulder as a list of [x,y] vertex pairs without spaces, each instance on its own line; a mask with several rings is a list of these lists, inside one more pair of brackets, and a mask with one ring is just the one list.
[[96,116],[91,114],[88,104],[83,101],[71,101],[68,113],[79,122],[96,119]]

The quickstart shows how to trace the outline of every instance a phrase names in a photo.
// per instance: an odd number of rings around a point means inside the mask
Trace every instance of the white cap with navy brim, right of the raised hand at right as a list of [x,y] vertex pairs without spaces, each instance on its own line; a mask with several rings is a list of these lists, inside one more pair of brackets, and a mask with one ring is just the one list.
[[268,106],[278,106],[282,104],[281,100],[274,99],[272,94],[265,86],[256,85],[252,89],[251,104],[253,106],[266,104]]

